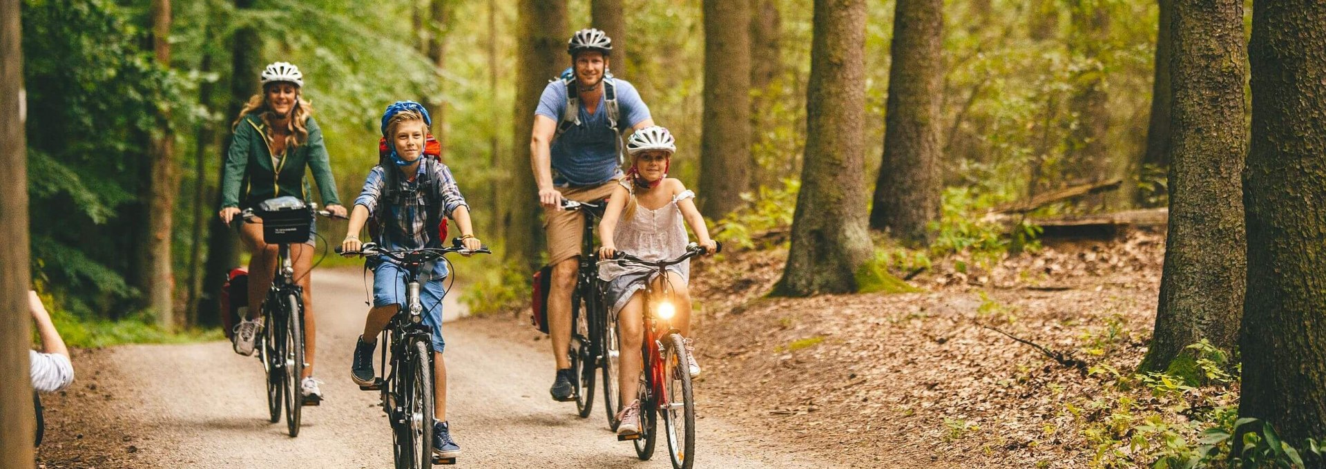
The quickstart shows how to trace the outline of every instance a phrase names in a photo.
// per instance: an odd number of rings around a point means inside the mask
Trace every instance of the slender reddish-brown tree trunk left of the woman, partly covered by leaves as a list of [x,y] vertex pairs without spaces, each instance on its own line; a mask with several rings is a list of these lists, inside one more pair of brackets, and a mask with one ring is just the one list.
[[[156,65],[170,68],[170,0],[152,0],[152,50]],[[147,199],[147,249],[139,272],[139,286],[147,293],[147,306],[163,329],[175,327],[175,276],[171,256],[171,225],[179,182],[175,170],[175,135],[170,113],[162,110],[159,131],[151,138],[151,179]]]

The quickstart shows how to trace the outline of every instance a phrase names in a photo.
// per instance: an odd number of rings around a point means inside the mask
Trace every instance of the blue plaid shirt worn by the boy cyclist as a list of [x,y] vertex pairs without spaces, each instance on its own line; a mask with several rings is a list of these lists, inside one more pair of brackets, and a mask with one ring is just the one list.
[[[427,158],[427,156],[426,156]],[[428,174],[431,172],[431,174]],[[451,175],[451,170],[446,164],[438,160],[426,160],[419,164],[419,170],[414,180],[407,180],[406,178],[396,178],[399,183],[399,203],[389,204],[389,213],[382,213],[379,220],[382,220],[382,227],[379,227],[378,242],[390,250],[399,249],[420,249],[420,248],[442,248],[446,240],[438,238],[438,227],[427,227],[428,211],[436,211],[436,207],[428,207],[428,191],[420,189],[420,180],[424,175],[434,180],[434,184],[440,184],[442,188],[442,215],[451,217],[456,208],[469,204],[465,203],[465,197],[460,195],[460,188],[456,185],[456,179]],[[382,208],[382,192],[386,184],[386,171],[382,166],[373,167],[369,172],[369,178],[363,182],[363,189],[359,191],[359,197],[354,199],[355,205],[363,205],[369,209],[370,215],[378,215],[378,209]],[[442,219],[439,219],[440,221]],[[370,260],[370,266],[377,266],[378,262]],[[432,269],[430,269],[436,278],[447,276],[446,262],[436,262]],[[424,270],[428,272],[428,270]],[[420,278],[424,280],[424,278]]]

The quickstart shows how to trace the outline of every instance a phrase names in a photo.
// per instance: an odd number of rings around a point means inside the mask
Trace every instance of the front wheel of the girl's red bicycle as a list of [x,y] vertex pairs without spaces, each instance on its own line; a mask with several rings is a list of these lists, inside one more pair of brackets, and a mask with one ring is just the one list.
[[[695,396],[682,334],[670,334],[663,352],[663,388],[668,403],[659,408],[659,413],[663,416],[668,456],[674,469],[691,469],[695,465]],[[676,404],[682,404],[682,408]]]

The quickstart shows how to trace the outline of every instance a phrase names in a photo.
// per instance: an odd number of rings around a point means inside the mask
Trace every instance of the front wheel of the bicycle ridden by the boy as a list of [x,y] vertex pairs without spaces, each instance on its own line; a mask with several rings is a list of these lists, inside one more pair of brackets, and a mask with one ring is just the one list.
[[400,412],[392,423],[395,432],[396,469],[432,468],[432,351],[427,342],[415,339],[407,347],[402,379]]

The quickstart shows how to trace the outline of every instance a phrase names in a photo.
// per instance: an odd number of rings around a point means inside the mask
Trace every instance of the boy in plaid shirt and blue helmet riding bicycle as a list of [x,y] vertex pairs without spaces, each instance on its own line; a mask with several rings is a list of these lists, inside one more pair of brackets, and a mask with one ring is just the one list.
[[[354,200],[350,225],[341,246],[358,252],[362,242],[357,233],[370,215],[378,223],[378,244],[389,250],[442,248],[444,245],[439,224],[443,217],[456,220],[465,249],[475,250],[483,244],[473,236],[469,205],[465,204],[451,170],[436,158],[426,158],[428,110],[414,101],[400,101],[382,114],[382,136],[386,155],[369,172],[363,191]],[[365,319],[363,335],[355,340],[350,378],[359,386],[374,383],[373,350],[377,338],[391,317],[404,303],[404,272],[392,262],[369,258],[373,269],[373,309]],[[430,274],[419,278],[423,323],[432,329],[434,350],[434,454],[451,458],[460,454],[460,446],[451,439],[447,424],[447,366],[442,351],[442,297],[446,294],[443,278],[446,262],[435,261]]]

